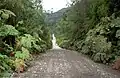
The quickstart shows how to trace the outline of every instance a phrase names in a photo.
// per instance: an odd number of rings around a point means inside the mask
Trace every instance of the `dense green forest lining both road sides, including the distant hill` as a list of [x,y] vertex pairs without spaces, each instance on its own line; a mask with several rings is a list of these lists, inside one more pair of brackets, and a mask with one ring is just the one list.
[[0,77],[23,72],[34,54],[60,47],[99,63],[120,57],[120,0],[72,0],[45,13],[41,0],[0,0]]

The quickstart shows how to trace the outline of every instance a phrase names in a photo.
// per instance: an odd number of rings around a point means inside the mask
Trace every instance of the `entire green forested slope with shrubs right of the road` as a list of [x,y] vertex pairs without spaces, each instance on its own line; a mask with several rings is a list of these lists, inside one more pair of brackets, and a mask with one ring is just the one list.
[[74,1],[56,29],[61,47],[112,63],[120,56],[120,0]]

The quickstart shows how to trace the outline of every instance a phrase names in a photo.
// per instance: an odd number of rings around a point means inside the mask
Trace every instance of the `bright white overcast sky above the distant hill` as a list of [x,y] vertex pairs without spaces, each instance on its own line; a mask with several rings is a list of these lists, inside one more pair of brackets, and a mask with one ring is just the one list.
[[56,12],[62,8],[67,7],[66,4],[68,2],[70,3],[70,0],[43,0],[42,5],[44,10],[51,10]]

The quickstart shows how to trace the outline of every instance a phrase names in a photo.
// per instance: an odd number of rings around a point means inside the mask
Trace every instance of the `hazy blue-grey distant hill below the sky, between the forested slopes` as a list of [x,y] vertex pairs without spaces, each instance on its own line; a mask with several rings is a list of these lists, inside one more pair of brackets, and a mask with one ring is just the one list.
[[57,31],[56,31],[57,22],[59,22],[61,20],[61,18],[66,14],[66,12],[68,10],[69,10],[69,7],[63,8],[54,13],[46,13],[45,14],[45,22],[48,25],[48,27],[50,28],[51,33],[57,33]]

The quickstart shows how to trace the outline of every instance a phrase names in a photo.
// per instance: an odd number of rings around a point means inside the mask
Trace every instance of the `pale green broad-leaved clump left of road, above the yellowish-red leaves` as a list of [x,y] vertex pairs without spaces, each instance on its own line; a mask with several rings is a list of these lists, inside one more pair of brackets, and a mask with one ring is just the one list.
[[25,34],[20,37],[20,44],[30,51],[44,52],[47,48],[46,42],[41,38],[35,38],[30,34]]

